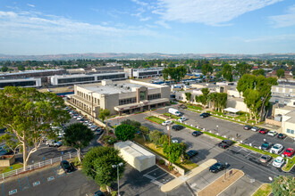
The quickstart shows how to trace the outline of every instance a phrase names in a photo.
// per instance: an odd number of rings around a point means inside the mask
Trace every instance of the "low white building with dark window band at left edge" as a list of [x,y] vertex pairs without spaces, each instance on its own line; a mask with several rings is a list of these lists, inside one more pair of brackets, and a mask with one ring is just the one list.
[[0,79],[0,89],[5,86],[41,87],[41,78]]

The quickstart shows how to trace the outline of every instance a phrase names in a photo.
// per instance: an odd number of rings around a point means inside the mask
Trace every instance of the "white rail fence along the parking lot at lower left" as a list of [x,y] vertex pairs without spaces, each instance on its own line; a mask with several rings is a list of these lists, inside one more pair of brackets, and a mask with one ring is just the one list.
[[30,165],[30,166],[27,166],[27,167],[21,167],[21,168],[18,168],[18,169],[14,169],[12,171],[9,171],[9,172],[5,172],[2,174],[2,179],[4,180],[5,178],[8,178],[10,176],[17,176],[17,175],[20,175],[20,174],[23,174],[23,173],[26,173],[26,172],[30,172],[34,169],[37,169],[37,168],[40,168],[40,167],[46,167],[47,165],[52,165],[56,162],[60,162],[64,159],[72,159],[72,158],[75,158],[77,156],[78,152],[75,151],[75,152],[68,152],[68,153],[65,153],[63,156],[61,157],[57,157],[57,158],[54,158],[54,159],[47,159],[47,160],[44,160],[44,161],[41,161],[41,162],[38,162],[38,163],[35,163],[33,165]]

